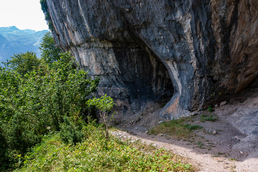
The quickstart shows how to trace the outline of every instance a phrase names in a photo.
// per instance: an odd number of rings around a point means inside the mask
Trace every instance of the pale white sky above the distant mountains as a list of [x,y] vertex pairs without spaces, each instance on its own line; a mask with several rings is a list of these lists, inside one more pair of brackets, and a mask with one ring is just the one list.
[[0,27],[48,30],[40,0],[0,0]]

